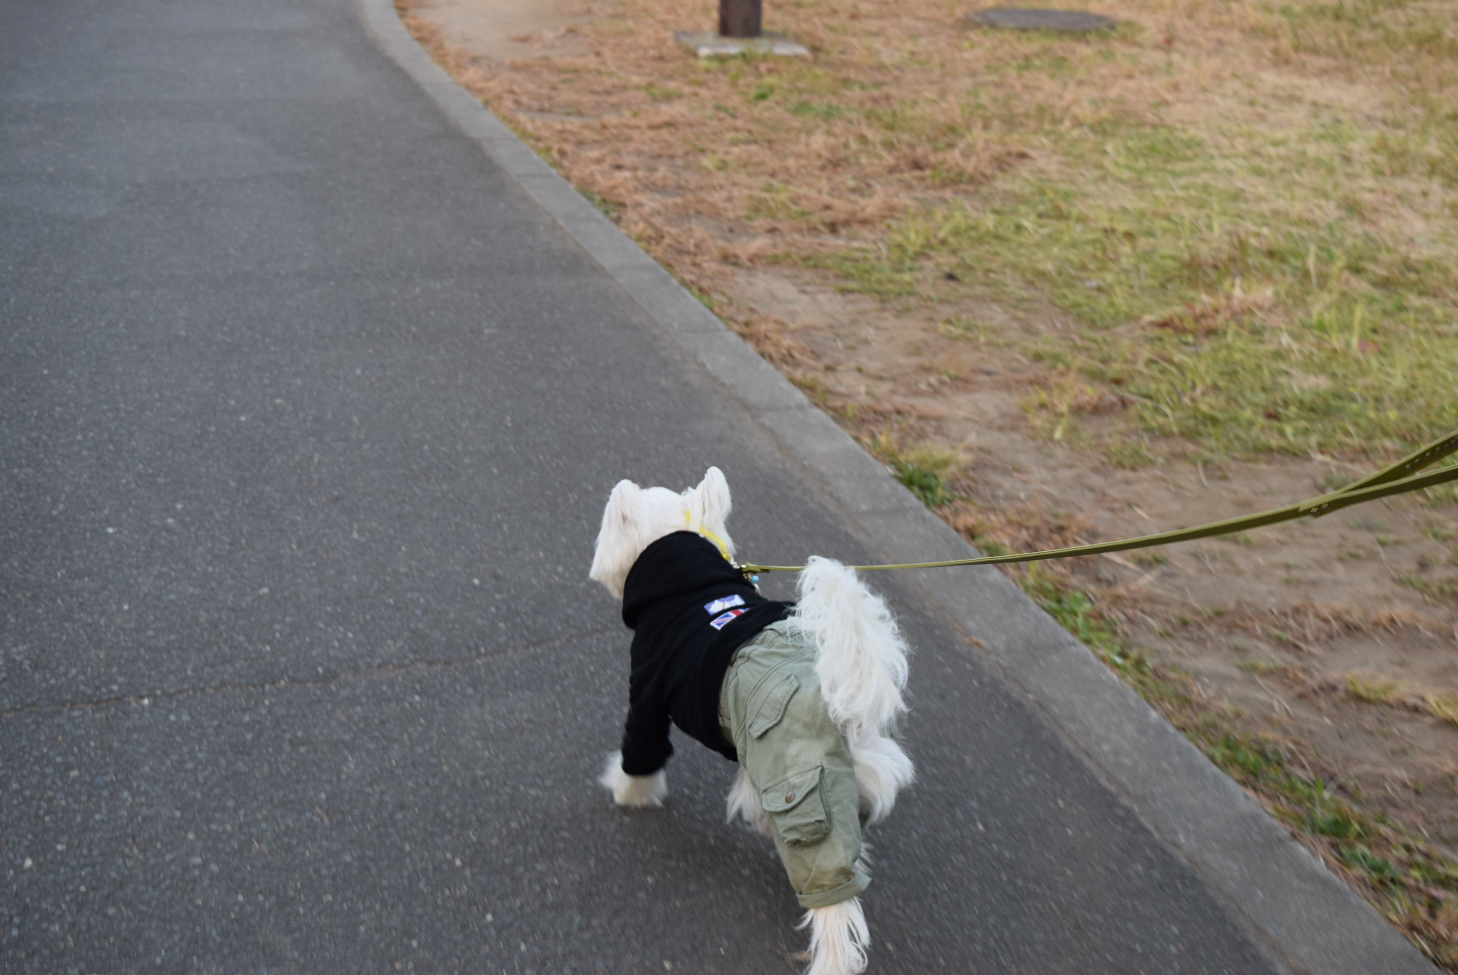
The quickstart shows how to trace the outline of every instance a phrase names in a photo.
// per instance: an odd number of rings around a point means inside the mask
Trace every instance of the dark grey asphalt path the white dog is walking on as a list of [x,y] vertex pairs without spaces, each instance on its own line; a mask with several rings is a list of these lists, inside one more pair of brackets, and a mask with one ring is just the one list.
[[[719,464],[761,562],[875,556],[851,520],[348,0],[3,19],[0,971],[793,971],[729,763],[593,784],[628,633],[585,577],[624,476]],[[876,585],[920,781],[875,972],[1276,971]]]

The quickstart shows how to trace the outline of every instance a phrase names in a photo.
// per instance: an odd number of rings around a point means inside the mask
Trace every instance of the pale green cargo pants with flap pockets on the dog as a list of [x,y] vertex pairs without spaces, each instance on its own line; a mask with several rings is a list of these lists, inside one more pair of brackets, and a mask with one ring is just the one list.
[[870,885],[860,857],[860,795],[850,749],[830,720],[815,647],[770,623],[725,674],[719,724],[760,790],[770,835],[802,908],[847,901]]

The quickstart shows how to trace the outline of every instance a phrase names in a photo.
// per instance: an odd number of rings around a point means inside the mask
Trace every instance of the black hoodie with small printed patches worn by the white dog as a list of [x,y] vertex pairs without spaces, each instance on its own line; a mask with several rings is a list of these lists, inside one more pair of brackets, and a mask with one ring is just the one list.
[[790,609],[755,593],[693,531],[643,549],[623,585],[623,622],[634,631],[623,771],[652,775],[663,768],[674,753],[669,721],[738,762],[719,730],[719,687],[735,651]]

